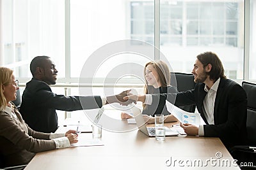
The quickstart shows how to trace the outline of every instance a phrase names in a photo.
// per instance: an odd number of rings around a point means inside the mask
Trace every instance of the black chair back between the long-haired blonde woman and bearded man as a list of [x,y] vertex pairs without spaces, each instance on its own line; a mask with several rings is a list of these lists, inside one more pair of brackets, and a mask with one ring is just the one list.
[[[171,85],[177,87],[178,92],[192,90],[195,88],[194,76],[193,74],[171,72]],[[179,106],[179,108],[194,113],[196,105]]]

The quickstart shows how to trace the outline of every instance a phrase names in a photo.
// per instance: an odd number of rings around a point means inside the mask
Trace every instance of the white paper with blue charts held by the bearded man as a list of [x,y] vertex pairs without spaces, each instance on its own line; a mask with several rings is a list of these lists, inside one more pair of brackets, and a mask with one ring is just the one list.
[[166,101],[167,110],[183,124],[204,125],[199,113],[189,113]]

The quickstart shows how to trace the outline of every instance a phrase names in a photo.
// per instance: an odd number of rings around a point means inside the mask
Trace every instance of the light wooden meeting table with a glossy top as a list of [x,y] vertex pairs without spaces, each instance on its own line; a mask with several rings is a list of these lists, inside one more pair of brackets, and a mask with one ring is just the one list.
[[[87,113],[96,115],[97,110]],[[115,114],[120,117],[120,113]],[[219,138],[179,135],[156,141],[138,131],[136,124],[105,114],[100,124],[103,125],[100,139],[103,145],[36,153],[25,169],[240,169]],[[173,124],[177,122],[165,125],[172,127]],[[118,131],[109,131],[111,128]],[[92,141],[92,133],[81,133],[80,139],[79,142]]]

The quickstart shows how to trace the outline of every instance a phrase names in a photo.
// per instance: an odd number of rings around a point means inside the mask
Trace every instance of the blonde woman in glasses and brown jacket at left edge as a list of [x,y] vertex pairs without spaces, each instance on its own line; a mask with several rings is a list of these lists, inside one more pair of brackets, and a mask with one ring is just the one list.
[[19,89],[13,71],[0,67],[0,156],[3,167],[28,164],[35,153],[77,143],[76,131],[47,134],[33,131],[11,102]]

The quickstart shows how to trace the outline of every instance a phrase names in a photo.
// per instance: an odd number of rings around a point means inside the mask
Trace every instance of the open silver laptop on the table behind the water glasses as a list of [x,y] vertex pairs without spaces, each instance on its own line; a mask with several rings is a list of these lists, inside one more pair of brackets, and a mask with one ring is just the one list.
[[[143,134],[147,135],[148,137],[156,137],[156,131],[154,127],[147,127],[145,125],[144,118],[141,114],[141,111],[136,106],[131,108],[131,111],[134,115],[135,122]],[[172,129],[165,127],[165,136],[177,136],[179,133],[177,131],[172,131]]]

